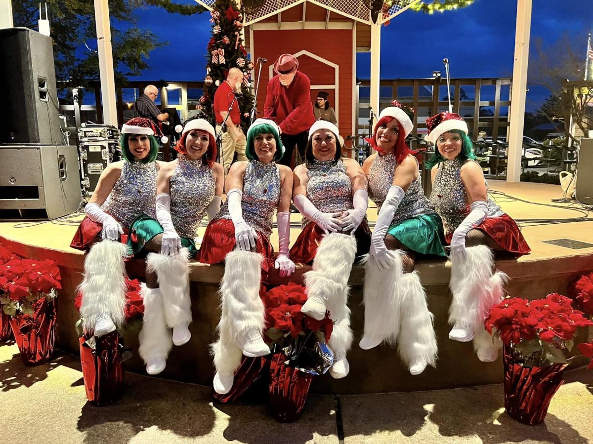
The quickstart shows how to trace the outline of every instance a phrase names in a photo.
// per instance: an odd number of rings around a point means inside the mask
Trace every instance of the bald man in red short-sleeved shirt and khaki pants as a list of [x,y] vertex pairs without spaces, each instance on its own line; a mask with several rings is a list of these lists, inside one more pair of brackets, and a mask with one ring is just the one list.
[[[222,122],[229,113],[232,101],[235,97],[234,92],[241,93],[241,84],[243,84],[243,72],[238,68],[228,70],[227,79],[216,88],[214,93],[214,114],[216,116],[216,132],[220,132]],[[246,161],[245,149],[247,139],[241,129],[241,110],[239,102],[235,100],[232,104],[231,114],[225,123],[225,130],[222,133],[222,152],[221,164],[224,168],[224,174],[227,175],[231,168],[232,159],[237,152],[237,159]]]

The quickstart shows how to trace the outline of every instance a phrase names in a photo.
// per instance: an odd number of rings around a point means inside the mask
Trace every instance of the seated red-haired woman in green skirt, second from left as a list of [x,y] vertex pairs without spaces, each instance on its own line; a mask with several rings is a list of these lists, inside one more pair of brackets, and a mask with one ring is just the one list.
[[[165,369],[172,343],[190,340],[192,322],[188,259],[197,253],[194,237],[204,215],[213,219],[221,207],[224,176],[215,163],[216,135],[204,119],[187,121],[175,149],[176,160],[161,167],[157,178],[156,219],[139,215],[127,244],[146,255],[144,324],[139,335],[146,372]],[[173,337],[168,330],[173,328]],[[171,343],[171,339],[173,340]]]

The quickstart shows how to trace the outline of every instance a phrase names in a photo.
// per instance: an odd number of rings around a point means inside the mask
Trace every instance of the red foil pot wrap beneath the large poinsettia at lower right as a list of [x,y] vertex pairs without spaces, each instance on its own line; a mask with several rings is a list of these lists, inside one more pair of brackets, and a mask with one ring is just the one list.
[[543,423],[550,401],[564,379],[568,363],[549,367],[523,367],[515,362],[511,347],[504,346],[505,410],[520,423],[535,426]]

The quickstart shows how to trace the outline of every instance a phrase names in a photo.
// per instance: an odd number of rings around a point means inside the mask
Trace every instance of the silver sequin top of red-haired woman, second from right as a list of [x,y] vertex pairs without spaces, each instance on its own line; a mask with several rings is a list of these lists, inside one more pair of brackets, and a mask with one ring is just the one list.
[[[377,212],[381,210],[385,197],[387,197],[387,193],[393,184],[393,174],[396,166],[396,155],[391,152],[384,156],[377,155],[369,169],[369,197],[377,204]],[[424,190],[422,190],[422,179],[418,175],[406,190],[403,199],[401,199],[391,225],[410,219],[412,216],[430,213],[436,213],[436,210],[432,203],[426,199]]]

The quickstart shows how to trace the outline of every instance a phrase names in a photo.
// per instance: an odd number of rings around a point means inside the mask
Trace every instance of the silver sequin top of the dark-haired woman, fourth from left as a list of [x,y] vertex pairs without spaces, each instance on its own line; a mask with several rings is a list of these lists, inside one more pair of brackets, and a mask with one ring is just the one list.
[[[307,177],[307,197],[320,212],[336,213],[353,208],[352,181],[342,159],[337,162],[315,160],[308,168]],[[310,222],[302,218],[302,228]]]

